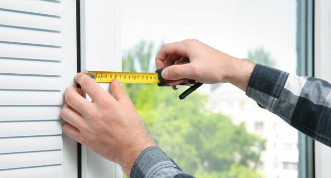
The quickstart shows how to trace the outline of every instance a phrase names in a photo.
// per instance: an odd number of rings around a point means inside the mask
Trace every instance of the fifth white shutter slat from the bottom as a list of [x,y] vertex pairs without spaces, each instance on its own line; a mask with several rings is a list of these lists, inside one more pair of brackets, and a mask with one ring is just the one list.
[[1,121],[61,120],[61,106],[0,106]]

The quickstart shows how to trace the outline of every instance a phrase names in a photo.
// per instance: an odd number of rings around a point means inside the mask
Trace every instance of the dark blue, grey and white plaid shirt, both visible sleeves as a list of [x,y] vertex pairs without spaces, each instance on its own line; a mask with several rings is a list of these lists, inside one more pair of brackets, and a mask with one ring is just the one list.
[[[302,133],[331,146],[331,85],[256,65],[246,95]],[[157,147],[135,161],[130,177],[192,177]]]

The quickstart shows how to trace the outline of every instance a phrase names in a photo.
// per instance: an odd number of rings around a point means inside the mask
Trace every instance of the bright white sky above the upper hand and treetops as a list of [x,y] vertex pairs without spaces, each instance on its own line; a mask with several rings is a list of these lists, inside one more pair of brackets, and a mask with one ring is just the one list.
[[295,0],[122,0],[122,50],[142,40],[199,41],[239,58],[264,47],[276,68],[295,73]]

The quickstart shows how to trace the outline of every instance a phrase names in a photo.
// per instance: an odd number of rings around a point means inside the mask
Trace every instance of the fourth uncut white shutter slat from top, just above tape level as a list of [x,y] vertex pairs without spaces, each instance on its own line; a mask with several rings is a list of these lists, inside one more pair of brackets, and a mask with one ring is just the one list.
[[[0,44],[1,48],[1,44]],[[1,53],[1,52],[0,52]],[[62,64],[59,62],[9,60],[0,58],[0,73],[31,74],[31,75],[61,75]]]

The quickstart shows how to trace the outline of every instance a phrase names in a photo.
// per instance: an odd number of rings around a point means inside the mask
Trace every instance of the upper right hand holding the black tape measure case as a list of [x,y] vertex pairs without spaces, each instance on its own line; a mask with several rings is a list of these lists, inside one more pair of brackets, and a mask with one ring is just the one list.
[[[189,62],[185,65],[176,63]],[[245,91],[255,63],[227,55],[198,40],[165,44],[155,57],[164,79],[195,79],[201,83],[230,82]]]

